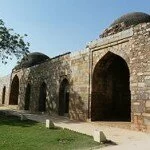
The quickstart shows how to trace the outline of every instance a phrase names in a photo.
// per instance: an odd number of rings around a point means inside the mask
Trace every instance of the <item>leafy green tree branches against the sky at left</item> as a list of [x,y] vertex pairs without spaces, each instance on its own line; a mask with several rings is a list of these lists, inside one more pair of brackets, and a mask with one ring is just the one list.
[[24,41],[27,35],[19,35],[5,26],[3,20],[0,19],[0,59],[6,64],[8,59],[15,56],[20,59],[22,56],[29,53],[30,44]]

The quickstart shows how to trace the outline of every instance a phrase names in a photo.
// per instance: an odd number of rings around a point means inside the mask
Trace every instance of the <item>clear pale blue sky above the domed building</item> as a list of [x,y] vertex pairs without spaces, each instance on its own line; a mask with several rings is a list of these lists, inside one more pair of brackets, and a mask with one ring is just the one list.
[[[116,18],[135,11],[150,14],[150,0],[0,0],[6,26],[28,35],[31,52],[49,57],[83,49]],[[0,76],[15,64],[0,64]]]

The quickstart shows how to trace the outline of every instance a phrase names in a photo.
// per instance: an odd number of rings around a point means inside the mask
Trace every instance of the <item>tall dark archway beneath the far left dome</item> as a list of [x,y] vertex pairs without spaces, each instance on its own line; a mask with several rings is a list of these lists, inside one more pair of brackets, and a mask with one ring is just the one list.
[[19,78],[17,75],[15,75],[11,83],[11,91],[9,98],[10,105],[18,105],[18,95],[19,95]]

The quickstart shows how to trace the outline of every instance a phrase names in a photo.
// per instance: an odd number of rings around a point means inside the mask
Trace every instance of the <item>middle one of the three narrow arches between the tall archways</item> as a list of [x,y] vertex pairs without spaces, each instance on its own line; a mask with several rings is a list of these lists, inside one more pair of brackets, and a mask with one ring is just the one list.
[[46,111],[46,83],[43,82],[40,86],[40,94],[39,94],[39,111]]

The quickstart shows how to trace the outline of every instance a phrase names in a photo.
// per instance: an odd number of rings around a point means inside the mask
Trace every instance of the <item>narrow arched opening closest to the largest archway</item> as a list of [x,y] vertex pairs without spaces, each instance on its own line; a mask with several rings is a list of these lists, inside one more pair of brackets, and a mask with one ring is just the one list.
[[60,84],[58,113],[60,116],[69,113],[69,82],[67,79],[64,79]]

